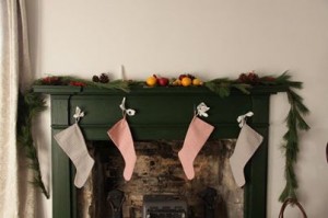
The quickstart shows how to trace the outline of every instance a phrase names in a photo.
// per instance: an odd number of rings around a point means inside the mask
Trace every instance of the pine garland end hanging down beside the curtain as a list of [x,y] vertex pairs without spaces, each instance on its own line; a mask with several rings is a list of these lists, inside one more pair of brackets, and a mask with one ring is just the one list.
[[34,172],[33,181],[30,182],[33,185],[40,187],[45,196],[49,198],[49,193],[42,180],[37,149],[34,145],[32,136],[33,118],[45,108],[45,100],[40,94],[34,93],[32,91],[28,91],[25,94],[20,93],[16,134],[17,144],[24,149],[26,158],[30,160],[28,167]]

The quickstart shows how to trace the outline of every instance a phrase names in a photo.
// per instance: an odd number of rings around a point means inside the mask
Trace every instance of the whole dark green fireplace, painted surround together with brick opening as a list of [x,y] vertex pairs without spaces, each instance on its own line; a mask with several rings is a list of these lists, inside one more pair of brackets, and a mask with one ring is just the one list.
[[[232,91],[225,99],[207,88],[132,88],[126,93],[97,88],[35,85],[34,91],[50,94],[52,135],[74,123],[77,106],[85,112],[80,127],[96,160],[86,185],[78,190],[73,185],[74,167],[52,140],[54,218],[106,218],[110,213],[107,195],[112,190],[120,190],[126,196],[124,217],[140,217],[142,199],[148,194],[180,195],[188,203],[190,216],[202,217],[203,199],[199,193],[206,188],[218,192],[218,217],[266,217],[269,100],[283,88],[259,87],[250,94]],[[122,180],[124,160],[107,136],[107,130],[122,116],[118,105],[124,96],[127,106],[137,111],[136,116],[128,118],[138,157],[129,182]],[[211,108],[209,117],[203,119],[214,126],[214,131],[196,158],[196,177],[188,181],[177,151],[194,108],[201,102]],[[263,141],[245,168],[246,185],[237,188],[227,160],[239,133],[236,118],[249,111],[255,115],[248,124],[263,136]]]

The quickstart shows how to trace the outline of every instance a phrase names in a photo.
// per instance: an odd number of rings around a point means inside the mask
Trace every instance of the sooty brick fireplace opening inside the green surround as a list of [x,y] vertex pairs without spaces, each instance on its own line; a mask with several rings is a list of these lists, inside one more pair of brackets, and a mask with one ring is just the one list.
[[[95,165],[84,187],[77,191],[78,217],[115,217],[113,204],[118,200],[122,218],[143,218],[147,204],[156,197],[163,199],[163,196],[180,200],[181,205],[186,203],[188,218],[204,218],[209,211],[215,218],[243,217],[244,191],[236,186],[229,164],[235,141],[209,140],[194,162],[195,179],[191,181],[187,180],[177,156],[184,141],[136,141],[138,158],[129,182],[122,177],[125,162],[115,145],[92,141],[89,149]],[[118,199],[115,194],[122,194],[122,197]],[[160,206],[154,208],[161,209]]]

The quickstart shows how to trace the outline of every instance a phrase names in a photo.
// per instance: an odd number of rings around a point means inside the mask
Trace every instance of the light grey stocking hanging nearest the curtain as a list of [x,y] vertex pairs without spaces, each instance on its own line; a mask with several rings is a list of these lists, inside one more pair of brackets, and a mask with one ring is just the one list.
[[60,131],[54,137],[77,168],[74,179],[75,186],[82,187],[93,168],[94,160],[87,152],[86,145],[78,123]]

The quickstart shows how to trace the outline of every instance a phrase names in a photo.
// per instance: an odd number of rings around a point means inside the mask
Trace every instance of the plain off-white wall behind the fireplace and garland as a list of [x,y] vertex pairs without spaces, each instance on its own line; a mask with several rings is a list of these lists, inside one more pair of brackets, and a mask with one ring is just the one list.
[[[328,215],[328,1],[325,0],[56,0],[26,1],[37,77],[91,78],[119,66],[129,79],[192,72],[207,80],[241,72],[279,74],[289,69],[304,81],[311,131],[301,134],[296,168],[298,197],[308,217]],[[268,217],[278,217],[284,186],[281,138],[286,97],[271,99]],[[48,115],[43,118],[49,133]],[[49,134],[47,135],[49,138]],[[49,171],[43,145],[44,171]],[[46,176],[46,180],[49,177]],[[48,182],[48,181],[47,181]],[[40,203],[50,217],[50,200]],[[286,217],[300,217],[289,209]]]

